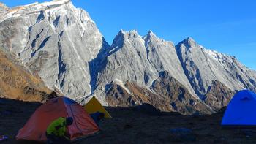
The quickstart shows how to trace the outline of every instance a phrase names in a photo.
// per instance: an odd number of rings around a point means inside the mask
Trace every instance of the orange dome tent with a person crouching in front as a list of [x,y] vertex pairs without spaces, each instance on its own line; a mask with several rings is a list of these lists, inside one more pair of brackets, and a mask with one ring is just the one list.
[[73,124],[67,129],[71,140],[99,131],[97,124],[82,106],[72,99],[61,96],[50,99],[37,108],[25,126],[19,130],[16,139],[45,141],[48,125],[59,117],[73,118]]

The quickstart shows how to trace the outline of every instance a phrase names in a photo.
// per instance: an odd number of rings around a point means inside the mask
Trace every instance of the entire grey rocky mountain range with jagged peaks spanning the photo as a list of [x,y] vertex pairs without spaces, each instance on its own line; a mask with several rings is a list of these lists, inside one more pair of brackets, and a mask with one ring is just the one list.
[[256,91],[255,71],[190,37],[174,45],[152,31],[121,30],[110,46],[69,0],[12,9],[0,4],[0,12],[0,47],[79,102],[97,96],[103,105],[147,102],[163,111],[209,114],[237,90]]

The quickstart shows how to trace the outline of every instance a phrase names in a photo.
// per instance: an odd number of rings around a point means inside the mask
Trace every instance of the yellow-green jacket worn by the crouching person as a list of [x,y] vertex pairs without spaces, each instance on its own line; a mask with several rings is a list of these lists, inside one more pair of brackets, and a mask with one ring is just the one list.
[[47,134],[54,134],[57,137],[64,137],[66,132],[66,118],[58,118],[54,120],[46,130]]

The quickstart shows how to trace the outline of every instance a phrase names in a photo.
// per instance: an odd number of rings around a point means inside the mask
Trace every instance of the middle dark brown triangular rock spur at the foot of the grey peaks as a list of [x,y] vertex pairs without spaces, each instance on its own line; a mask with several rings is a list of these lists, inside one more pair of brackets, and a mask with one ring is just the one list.
[[192,96],[187,88],[172,77],[169,72],[160,72],[159,78],[154,81],[151,89],[155,93],[164,96],[165,99],[168,99],[165,105],[169,105],[178,113],[184,115],[191,113],[213,113],[213,110],[208,105]]

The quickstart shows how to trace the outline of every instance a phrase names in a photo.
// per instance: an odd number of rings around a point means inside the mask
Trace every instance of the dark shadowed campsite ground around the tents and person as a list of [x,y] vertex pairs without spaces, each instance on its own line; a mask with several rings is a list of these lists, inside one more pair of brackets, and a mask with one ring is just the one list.
[[[23,127],[39,103],[0,99],[0,135],[5,143],[18,143],[15,134]],[[148,115],[134,107],[107,107],[112,119],[102,121],[102,132],[80,143],[255,143],[255,130],[221,129],[223,113],[183,116],[177,113]],[[191,132],[171,132],[187,128]],[[31,142],[25,142],[31,143]]]

